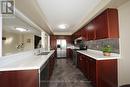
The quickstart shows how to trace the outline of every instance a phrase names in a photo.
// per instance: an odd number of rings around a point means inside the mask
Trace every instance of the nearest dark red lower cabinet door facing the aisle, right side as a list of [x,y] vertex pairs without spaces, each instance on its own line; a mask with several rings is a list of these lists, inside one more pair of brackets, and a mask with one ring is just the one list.
[[89,79],[96,86],[96,60],[89,58]]

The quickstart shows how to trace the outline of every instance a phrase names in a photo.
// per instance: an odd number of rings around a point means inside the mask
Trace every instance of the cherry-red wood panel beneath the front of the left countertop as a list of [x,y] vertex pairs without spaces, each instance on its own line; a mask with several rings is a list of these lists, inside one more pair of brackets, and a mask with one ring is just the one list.
[[38,70],[0,72],[0,87],[39,87]]

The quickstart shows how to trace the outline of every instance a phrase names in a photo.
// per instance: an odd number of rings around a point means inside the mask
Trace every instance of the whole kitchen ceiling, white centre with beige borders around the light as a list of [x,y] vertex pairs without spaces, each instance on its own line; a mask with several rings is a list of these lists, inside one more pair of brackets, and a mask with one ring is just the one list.
[[[15,0],[16,8],[48,34],[71,35],[108,7],[128,0]],[[66,29],[58,25],[66,24]]]

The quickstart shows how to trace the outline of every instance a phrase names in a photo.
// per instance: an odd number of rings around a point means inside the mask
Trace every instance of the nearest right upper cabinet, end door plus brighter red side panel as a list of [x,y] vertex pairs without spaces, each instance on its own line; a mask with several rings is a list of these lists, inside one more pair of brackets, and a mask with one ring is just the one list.
[[96,39],[118,38],[118,11],[117,9],[107,9],[94,19],[96,29]]

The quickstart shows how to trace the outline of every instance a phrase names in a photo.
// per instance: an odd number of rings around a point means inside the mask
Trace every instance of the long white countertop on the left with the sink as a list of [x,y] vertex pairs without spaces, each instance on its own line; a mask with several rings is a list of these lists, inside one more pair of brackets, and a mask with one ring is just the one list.
[[43,64],[54,53],[54,50],[50,51],[48,55],[27,55],[27,56],[14,56],[11,58],[1,58],[0,71],[13,71],[13,70],[32,70],[40,69]]

